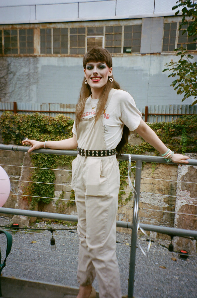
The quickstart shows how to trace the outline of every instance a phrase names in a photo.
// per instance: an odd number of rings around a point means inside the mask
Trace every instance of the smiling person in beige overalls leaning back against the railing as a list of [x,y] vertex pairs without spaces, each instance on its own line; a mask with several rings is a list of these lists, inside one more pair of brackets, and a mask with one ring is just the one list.
[[136,131],[167,160],[188,163],[189,157],[174,154],[142,120],[131,95],[120,90],[112,75],[112,58],[103,48],[93,48],[83,57],[85,80],[82,83],[73,138],[38,142],[39,148],[78,150],[72,162],[72,188],[78,212],[77,298],[94,298],[92,282],[97,276],[100,298],[121,298],[116,259],[116,212],[118,209],[119,167],[116,152]]

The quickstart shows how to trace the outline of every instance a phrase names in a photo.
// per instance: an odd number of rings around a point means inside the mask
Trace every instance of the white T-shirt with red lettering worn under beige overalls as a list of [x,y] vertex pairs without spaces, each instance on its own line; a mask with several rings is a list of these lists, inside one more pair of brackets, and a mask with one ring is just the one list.
[[[90,100],[91,96],[86,100],[82,115],[84,119],[95,116],[98,99],[92,99],[91,102]],[[142,114],[136,108],[133,97],[128,92],[118,89],[114,91],[103,116],[105,144],[109,150],[119,144],[124,124],[130,131],[134,131],[140,124]],[[75,122],[72,132],[76,134]]]

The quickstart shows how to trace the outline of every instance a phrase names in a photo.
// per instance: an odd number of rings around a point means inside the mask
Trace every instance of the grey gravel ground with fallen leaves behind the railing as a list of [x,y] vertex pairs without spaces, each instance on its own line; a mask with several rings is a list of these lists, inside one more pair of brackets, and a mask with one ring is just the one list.
[[[0,217],[0,225],[10,225],[9,217]],[[11,231],[12,250],[2,270],[5,277],[37,280],[47,283],[78,287],[76,279],[78,259],[78,235],[76,226],[51,223],[33,224],[34,228],[50,228],[57,249],[50,249],[50,231]],[[3,228],[1,228],[2,230]],[[119,262],[122,294],[127,295],[131,236],[117,232],[116,253]],[[146,249],[146,238],[138,238],[138,244]],[[167,249],[169,241],[152,242],[149,255],[145,257],[137,247],[135,267],[135,298],[196,298],[197,258],[183,260]],[[0,235],[2,260],[6,250],[6,237]],[[174,260],[172,260],[174,258]],[[94,287],[98,291],[97,280]]]

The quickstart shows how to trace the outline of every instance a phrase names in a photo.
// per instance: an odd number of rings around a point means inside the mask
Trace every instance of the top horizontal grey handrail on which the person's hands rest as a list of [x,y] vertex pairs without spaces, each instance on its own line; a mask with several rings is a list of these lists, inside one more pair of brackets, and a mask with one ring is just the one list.
[[[17,145],[2,145],[0,144],[0,150],[9,150],[9,151],[17,151],[17,152],[27,152],[30,147],[26,146],[17,146]],[[34,150],[33,153],[48,153],[48,154],[57,154],[57,155],[70,155],[77,156],[77,151],[74,150],[55,150],[55,149],[38,149]],[[158,162],[166,164],[167,162],[161,156],[150,156],[150,155],[138,155],[138,154],[130,154],[131,160],[137,161],[142,160],[144,162]],[[118,159],[128,160],[128,154],[121,154],[121,156],[117,157]],[[197,159],[188,159],[189,165],[197,165]],[[174,164],[170,162],[169,164]]]

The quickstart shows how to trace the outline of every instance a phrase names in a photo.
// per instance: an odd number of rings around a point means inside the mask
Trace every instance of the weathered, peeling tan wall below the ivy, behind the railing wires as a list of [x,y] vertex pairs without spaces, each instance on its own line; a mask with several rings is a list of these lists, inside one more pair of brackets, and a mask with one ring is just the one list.
[[[195,154],[189,154],[196,159]],[[32,172],[30,155],[22,152],[0,150],[0,164],[6,170],[11,181],[11,192],[4,207],[29,209],[27,197],[23,190],[28,186]],[[10,164],[11,166],[4,166]],[[65,171],[66,170],[66,171]],[[67,207],[70,199],[71,172],[70,169],[58,167],[55,171],[55,198],[48,205],[39,204],[35,210],[58,212],[77,215],[75,205]],[[197,229],[197,167],[146,163],[141,175],[140,222],[183,229]],[[130,188],[125,188],[126,198]],[[132,221],[133,200],[123,204],[118,209],[117,220]],[[189,214],[189,215],[188,215]],[[21,226],[28,226],[36,218],[14,215],[12,221]],[[121,232],[130,230],[118,228]],[[151,233],[151,236],[168,238],[166,235]],[[185,249],[196,253],[196,241],[174,237],[176,250]]]

